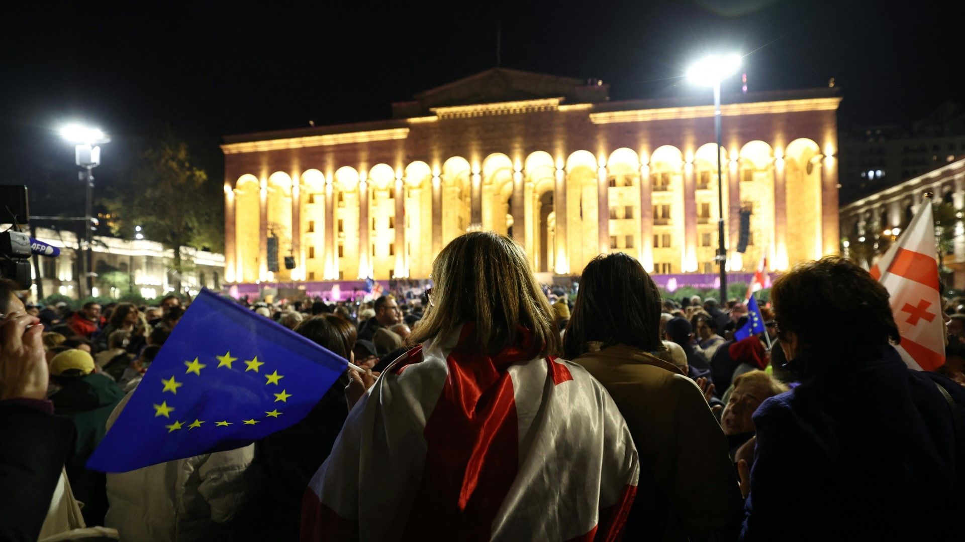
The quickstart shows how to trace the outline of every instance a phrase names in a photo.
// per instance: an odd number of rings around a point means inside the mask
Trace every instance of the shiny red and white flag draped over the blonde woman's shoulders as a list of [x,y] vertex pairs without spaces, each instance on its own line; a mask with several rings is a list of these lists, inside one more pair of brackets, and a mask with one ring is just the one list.
[[[530,334],[496,356],[465,324],[382,372],[302,503],[302,540],[613,540],[636,493],[626,423]],[[360,505],[361,504],[361,505]]]

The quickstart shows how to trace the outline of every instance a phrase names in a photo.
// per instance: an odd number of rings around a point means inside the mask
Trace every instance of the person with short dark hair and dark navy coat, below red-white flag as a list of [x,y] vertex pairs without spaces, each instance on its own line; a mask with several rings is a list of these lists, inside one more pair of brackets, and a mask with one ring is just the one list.
[[754,416],[742,539],[961,539],[965,392],[905,366],[888,298],[840,257],[775,282],[781,347],[801,384]]

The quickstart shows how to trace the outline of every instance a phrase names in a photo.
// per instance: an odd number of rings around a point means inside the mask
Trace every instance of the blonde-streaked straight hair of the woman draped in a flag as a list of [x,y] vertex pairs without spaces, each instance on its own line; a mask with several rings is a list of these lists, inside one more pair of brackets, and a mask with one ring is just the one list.
[[556,313],[537,284],[526,254],[506,235],[473,231],[456,237],[432,263],[426,314],[408,344],[446,337],[459,325],[476,325],[469,344],[495,354],[516,340],[523,327],[540,345],[539,355],[560,352]]

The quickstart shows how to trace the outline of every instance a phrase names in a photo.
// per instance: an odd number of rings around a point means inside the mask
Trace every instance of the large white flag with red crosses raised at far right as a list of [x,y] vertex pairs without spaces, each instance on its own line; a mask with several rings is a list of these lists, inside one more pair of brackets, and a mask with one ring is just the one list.
[[924,199],[911,224],[878,263],[871,276],[888,288],[901,334],[896,350],[909,367],[934,370],[945,364],[945,321],[938,285],[938,255],[931,200]]

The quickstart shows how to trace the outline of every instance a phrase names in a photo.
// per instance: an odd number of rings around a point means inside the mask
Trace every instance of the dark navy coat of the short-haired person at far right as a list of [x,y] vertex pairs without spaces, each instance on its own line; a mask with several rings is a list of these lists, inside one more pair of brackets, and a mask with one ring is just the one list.
[[961,539],[951,409],[965,391],[884,346],[863,360],[806,354],[795,390],[754,415],[743,540]]

